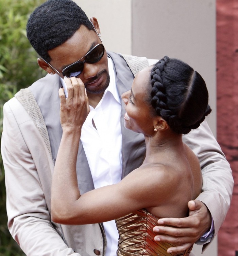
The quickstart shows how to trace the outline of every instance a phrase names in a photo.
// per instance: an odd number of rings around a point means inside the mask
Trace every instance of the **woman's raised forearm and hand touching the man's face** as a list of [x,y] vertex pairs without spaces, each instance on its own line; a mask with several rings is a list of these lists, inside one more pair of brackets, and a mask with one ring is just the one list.
[[[82,125],[89,113],[88,98],[83,82],[75,77],[64,78],[68,98],[64,89],[60,88],[60,122],[63,129],[61,144],[55,161],[51,189],[51,217],[57,221],[57,214],[67,201],[75,201],[80,197],[78,189],[76,162],[79,150]],[[70,189],[70,193],[69,193]]]

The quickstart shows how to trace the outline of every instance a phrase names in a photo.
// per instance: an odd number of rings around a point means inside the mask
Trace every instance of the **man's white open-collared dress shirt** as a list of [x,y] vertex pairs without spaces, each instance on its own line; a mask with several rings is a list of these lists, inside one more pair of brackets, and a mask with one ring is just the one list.
[[[96,108],[90,106],[81,134],[95,188],[118,183],[122,172],[121,102],[111,58],[108,58],[108,70],[109,86]],[[119,237],[116,223],[113,220],[103,223],[103,226],[107,239],[106,256],[115,256]]]

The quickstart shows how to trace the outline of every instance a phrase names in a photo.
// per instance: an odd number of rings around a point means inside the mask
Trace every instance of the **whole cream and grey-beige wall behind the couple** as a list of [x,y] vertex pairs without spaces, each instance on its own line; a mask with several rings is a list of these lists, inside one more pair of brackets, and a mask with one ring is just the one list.
[[[180,58],[204,78],[216,136],[216,1],[215,0],[75,0],[95,16],[105,48],[159,59]],[[193,252],[201,255],[201,246]],[[217,240],[203,256],[217,255]]]

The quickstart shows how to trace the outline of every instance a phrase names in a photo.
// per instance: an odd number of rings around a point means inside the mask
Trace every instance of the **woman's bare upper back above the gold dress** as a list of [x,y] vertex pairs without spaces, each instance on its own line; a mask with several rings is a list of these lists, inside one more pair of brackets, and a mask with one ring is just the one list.
[[153,172],[155,180],[156,169],[157,172],[163,173],[162,177],[159,175],[158,186],[153,195],[158,198],[159,204],[146,208],[147,211],[158,217],[188,216],[187,203],[195,199],[202,188],[199,160],[192,150],[183,143],[183,148],[179,151],[171,152],[167,157],[164,156],[162,161],[147,168]]

